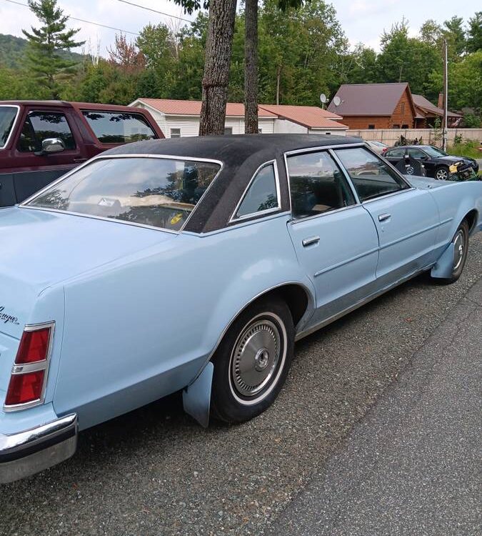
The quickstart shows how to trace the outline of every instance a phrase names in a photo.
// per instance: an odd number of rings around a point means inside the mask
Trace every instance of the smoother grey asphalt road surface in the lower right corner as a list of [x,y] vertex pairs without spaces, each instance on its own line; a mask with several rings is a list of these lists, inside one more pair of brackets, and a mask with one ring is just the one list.
[[481,358],[479,279],[271,535],[480,535]]

